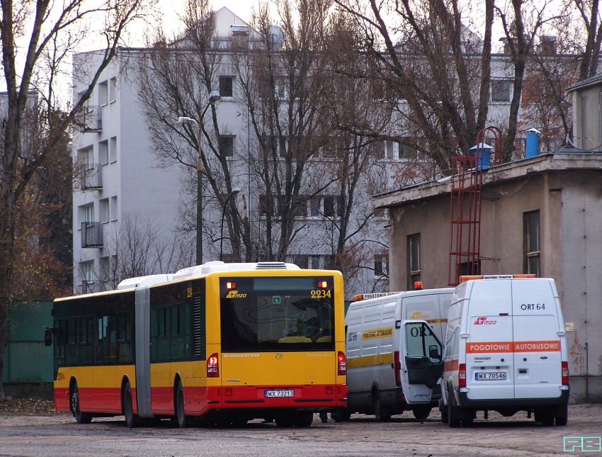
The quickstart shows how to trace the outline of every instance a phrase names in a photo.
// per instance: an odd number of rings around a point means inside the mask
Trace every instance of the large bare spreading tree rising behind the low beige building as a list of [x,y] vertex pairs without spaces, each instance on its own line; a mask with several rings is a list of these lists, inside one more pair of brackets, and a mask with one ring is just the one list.
[[[342,11],[363,27],[365,50],[382,74],[387,95],[399,102],[399,130],[424,138],[414,147],[449,171],[450,157],[475,145],[489,121],[492,77],[492,29],[497,17],[504,26],[511,53],[513,93],[504,126],[504,156],[514,147],[526,58],[533,37],[550,20],[547,2],[511,2],[508,9],[494,0],[484,4],[479,26],[472,33],[470,10],[459,1],[335,0]],[[421,144],[422,143],[422,144]]]

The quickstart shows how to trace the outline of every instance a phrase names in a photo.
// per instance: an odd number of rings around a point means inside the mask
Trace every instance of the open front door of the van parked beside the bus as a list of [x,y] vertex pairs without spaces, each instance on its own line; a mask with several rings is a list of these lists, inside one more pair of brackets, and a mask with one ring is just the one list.
[[425,321],[404,321],[401,378],[408,405],[431,401],[443,373],[442,354],[443,345]]

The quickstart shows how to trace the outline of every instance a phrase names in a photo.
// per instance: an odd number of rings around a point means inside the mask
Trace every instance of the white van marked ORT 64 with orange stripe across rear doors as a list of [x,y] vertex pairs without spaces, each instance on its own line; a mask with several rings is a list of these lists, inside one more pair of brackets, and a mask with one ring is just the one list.
[[439,404],[450,427],[470,427],[479,410],[486,419],[489,410],[506,417],[522,410],[545,425],[567,424],[569,364],[556,285],[524,276],[473,276],[455,288]]

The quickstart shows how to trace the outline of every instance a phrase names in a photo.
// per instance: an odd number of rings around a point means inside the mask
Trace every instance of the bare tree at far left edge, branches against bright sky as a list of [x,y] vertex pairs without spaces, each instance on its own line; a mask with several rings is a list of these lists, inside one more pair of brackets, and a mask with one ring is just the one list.
[[[28,184],[48,157],[69,140],[67,131],[76,113],[89,98],[102,70],[115,55],[123,31],[138,16],[142,0],[112,0],[89,4],[70,0],[51,9],[49,1],[2,1],[1,44],[4,81],[7,90],[6,118],[2,123],[0,162],[0,400],[4,400],[2,375],[6,346],[6,320],[13,299],[15,269],[16,205],[24,198]],[[90,75],[88,89],[72,108],[57,104],[55,79],[62,62],[74,47],[101,24],[106,48],[99,56],[96,72]],[[87,27],[86,27],[87,26]],[[23,45],[21,45],[23,43]],[[18,56],[17,50],[24,49]],[[19,58],[18,58],[19,57]],[[45,107],[40,116],[40,144],[23,149],[23,116],[28,99],[40,97]]]

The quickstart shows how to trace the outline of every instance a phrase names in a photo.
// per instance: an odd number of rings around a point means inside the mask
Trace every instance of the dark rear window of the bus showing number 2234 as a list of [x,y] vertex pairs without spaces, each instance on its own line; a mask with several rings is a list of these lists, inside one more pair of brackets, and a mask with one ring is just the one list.
[[334,278],[220,280],[222,351],[334,349]]

